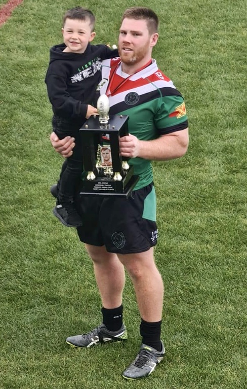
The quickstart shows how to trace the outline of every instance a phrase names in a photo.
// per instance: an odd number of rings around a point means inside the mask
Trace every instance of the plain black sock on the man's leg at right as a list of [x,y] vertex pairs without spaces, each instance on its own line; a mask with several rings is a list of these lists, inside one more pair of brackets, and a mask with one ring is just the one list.
[[140,334],[142,336],[142,343],[147,346],[155,348],[157,351],[161,351],[162,345],[160,342],[161,333],[161,320],[160,322],[145,322],[142,319],[140,324]]

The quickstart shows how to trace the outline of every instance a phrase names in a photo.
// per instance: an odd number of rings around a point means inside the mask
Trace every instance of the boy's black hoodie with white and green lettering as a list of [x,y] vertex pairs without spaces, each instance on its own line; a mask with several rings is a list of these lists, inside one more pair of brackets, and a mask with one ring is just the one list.
[[106,45],[90,45],[83,54],[64,53],[65,45],[53,46],[45,82],[55,115],[85,121],[88,104],[95,106],[101,79],[101,61],[118,56]]

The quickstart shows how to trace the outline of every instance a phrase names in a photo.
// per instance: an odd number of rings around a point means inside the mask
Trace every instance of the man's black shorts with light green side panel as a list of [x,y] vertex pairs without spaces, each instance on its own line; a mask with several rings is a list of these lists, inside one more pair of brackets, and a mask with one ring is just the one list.
[[76,207],[83,219],[77,228],[84,243],[106,246],[116,254],[142,253],[157,243],[156,196],[153,184],[128,198],[84,196]]

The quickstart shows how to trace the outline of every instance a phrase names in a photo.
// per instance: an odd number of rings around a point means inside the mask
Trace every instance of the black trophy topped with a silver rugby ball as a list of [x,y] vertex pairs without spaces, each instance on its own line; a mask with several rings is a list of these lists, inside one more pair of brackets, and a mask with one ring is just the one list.
[[84,177],[80,195],[128,197],[139,180],[128,159],[121,157],[119,139],[128,135],[127,115],[109,116],[109,100],[97,101],[99,115],[92,115],[80,128],[83,145]]

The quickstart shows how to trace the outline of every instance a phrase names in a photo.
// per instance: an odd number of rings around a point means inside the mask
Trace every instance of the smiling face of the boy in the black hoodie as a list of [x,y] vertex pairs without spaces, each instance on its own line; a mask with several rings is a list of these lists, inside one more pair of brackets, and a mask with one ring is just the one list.
[[67,53],[82,54],[87,49],[88,43],[92,42],[95,32],[91,32],[90,20],[66,19],[62,28],[63,41],[67,46]]

